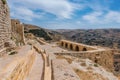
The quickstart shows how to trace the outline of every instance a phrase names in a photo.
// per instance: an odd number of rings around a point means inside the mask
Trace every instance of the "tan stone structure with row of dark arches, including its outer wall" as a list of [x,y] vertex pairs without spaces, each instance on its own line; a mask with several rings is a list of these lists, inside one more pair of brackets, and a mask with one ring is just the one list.
[[71,51],[58,52],[56,55],[70,55],[78,58],[89,58],[95,63],[100,64],[109,71],[114,71],[114,52],[110,49],[99,49],[93,46],[88,46],[80,43],[75,43],[67,40],[61,40],[59,46],[67,48]]

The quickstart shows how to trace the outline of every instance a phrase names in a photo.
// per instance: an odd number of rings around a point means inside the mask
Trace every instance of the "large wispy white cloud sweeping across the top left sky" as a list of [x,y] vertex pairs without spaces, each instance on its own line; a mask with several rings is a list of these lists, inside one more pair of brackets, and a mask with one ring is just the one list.
[[[19,12],[19,15],[27,15],[27,13],[25,13],[23,11],[23,13],[21,12],[21,10],[27,9],[27,12],[30,13],[32,15],[33,10],[37,10],[37,11],[44,11],[46,13],[50,13],[55,15],[56,17],[59,18],[71,18],[71,16],[73,15],[74,11],[77,9],[78,5],[75,5],[72,2],[69,2],[68,0],[8,0],[8,3],[10,6],[12,6],[11,8],[16,7],[19,8],[17,11]],[[21,9],[23,8],[23,9]],[[15,10],[12,10],[11,13],[15,13]],[[28,11],[29,9],[29,11]],[[18,15],[18,14],[16,14]],[[31,16],[28,14],[28,16]],[[33,15],[32,15],[33,16]]]

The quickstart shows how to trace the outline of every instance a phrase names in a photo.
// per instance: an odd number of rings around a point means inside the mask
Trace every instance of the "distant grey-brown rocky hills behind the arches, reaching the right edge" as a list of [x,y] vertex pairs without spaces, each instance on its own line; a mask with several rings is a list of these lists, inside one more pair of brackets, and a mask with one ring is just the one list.
[[88,45],[120,48],[120,29],[56,30],[67,39]]

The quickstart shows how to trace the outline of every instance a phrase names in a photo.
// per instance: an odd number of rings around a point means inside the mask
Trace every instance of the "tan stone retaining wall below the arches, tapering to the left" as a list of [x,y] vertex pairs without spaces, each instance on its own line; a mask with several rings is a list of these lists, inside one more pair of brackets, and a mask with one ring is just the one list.
[[55,55],[70,55],[78,58],[89,58],[95,63],[100,64],[109,71],[114,71],[113,65],[113,51],[112,50],[94,50],[86,52],[61,52],[55,53]]

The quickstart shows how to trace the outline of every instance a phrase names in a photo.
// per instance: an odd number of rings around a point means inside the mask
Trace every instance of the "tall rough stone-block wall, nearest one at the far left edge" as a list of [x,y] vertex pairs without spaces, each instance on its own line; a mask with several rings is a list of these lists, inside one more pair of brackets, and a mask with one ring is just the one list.
[[11,21],[9,8],[5,0],[0,0],[0,51],[11,38]]

